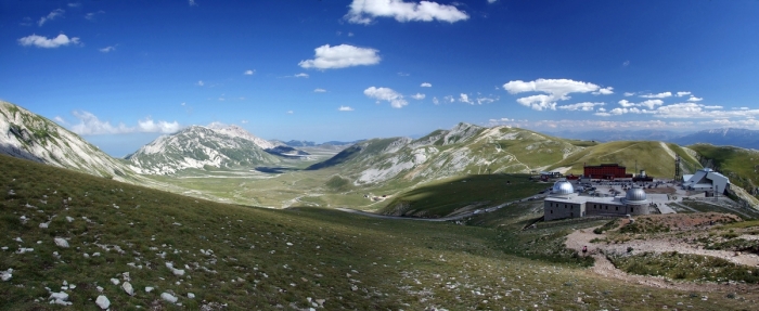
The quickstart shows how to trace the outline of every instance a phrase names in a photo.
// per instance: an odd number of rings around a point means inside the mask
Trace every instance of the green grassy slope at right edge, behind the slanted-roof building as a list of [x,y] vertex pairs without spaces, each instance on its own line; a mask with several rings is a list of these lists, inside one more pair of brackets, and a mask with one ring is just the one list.
[[759,186],[759,152],[709,144],[689,147],[713,160],[717,168],[730,178],[731,183],[747,191]]

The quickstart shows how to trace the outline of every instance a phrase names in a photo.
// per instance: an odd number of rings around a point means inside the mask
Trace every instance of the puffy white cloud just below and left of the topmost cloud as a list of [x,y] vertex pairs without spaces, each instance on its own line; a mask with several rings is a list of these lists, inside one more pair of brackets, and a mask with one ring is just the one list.
[[313,60],[300,61],[298,65],[306,69],[336,69],[380,63],[380,55],[377,55],[380,51],[369,48],[358,48],[348,44],[330,47],[330,44],[324,44],[314,51]]

